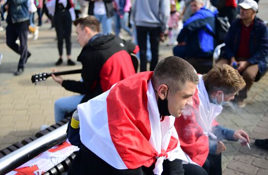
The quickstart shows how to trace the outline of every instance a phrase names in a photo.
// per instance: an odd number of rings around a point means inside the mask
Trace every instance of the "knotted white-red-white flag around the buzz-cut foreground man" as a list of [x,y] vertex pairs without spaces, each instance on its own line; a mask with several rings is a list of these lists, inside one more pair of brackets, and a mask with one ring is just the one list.
[[153,72],[135,74],[77,109],[81,142],[116,169],[149,167],[161,175],[164,159],[188,162],[173,126],[160,115],[151,83]]

